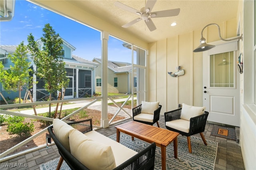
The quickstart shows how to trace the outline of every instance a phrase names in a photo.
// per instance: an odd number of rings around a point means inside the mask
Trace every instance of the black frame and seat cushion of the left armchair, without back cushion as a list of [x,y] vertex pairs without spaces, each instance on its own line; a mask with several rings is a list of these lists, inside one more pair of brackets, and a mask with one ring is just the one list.
[[157,126],[160,127],[158,121],[162,105],[158,105],[158,109],[154,111],[154,114],[142,113],[142,107],[142,104],[140,104],[132,109],[133,120],[147,125],[154,125],[154,123],[157,123]]

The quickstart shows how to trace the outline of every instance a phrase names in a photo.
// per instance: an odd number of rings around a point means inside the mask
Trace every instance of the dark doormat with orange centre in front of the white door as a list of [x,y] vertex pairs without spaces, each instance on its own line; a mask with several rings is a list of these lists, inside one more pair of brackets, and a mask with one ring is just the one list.
[[211,135],[218,136],[220,138],[236,140],[236,130],[233,127],[213,127]]

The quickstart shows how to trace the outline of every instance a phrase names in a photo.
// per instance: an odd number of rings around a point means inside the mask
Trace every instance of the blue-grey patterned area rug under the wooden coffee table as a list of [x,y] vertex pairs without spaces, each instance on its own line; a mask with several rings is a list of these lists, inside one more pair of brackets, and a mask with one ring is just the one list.
[[[116,140],[116,134],[109,136]],[[167,170],[214,170],[217,155],[218,142],[207,141],[207,146],[201,138],[191,136],[192,153],[188,152],[188,144],[186,136],[178,136],[178,158],[174,158],[173,142],[166,148],[166,169]],[[140,152],[148,146],[147,142],[120,133],[120,143]],[[40,165],[40,170],[56,170],[59,158]],[[155,170],[162,169],[161,148],[156,146]],[[65,161],[63,161],[61,170],[70,170]]]

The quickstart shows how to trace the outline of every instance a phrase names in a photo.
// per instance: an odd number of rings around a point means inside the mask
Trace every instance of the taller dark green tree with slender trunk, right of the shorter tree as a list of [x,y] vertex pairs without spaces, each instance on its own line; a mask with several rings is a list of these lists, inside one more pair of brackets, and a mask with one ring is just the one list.
[[[44,79],[46,91],[50,93],[49,100],[52,99],[52,93],[66,88],[69,79],[66,77],[65,62],[61,57],[63,54],[63,41],[59,34],[56,34],[50,24],[45,24],[43,28],[43,42],[42,50],[39,49],[38,44],[34,40],[32,33],[28,36],[28,49],[31,51],[32,59],[36,65],[36,76]],[[49,114],[51,110],[49,107]]]

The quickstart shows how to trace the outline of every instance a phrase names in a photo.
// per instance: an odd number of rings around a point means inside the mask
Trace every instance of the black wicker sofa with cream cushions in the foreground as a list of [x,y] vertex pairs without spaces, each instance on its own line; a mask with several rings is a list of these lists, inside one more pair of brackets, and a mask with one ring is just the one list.
[[[61,155],[57,169],[60,169],[65,160],[72,170],[154,170],[155,143],[135,152],[93,130],[92,119],[73,123],[54,119],[48,132]],[[102,148],[108,149],[102,152]],[[100,156],[97,157],[98,155]]]

